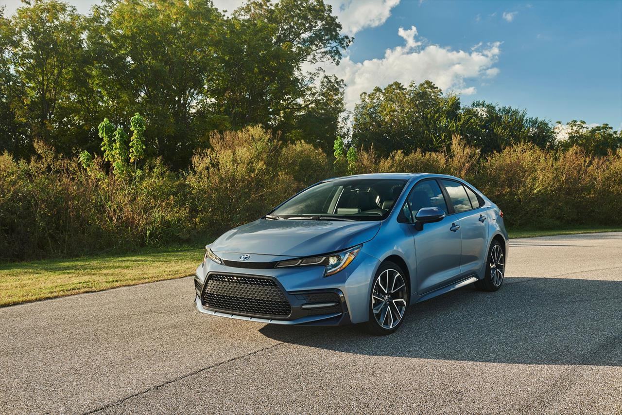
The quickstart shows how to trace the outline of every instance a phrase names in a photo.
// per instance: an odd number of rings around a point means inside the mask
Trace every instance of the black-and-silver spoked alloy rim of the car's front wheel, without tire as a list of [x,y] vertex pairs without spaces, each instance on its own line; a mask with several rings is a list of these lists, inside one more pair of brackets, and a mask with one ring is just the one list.
[[397,270],[384,270],[376,279],[371,293],[371,308],[376,322],[387,330],[396,327],[404,317],[407,300],[404,277]]

